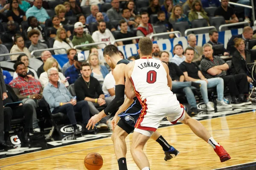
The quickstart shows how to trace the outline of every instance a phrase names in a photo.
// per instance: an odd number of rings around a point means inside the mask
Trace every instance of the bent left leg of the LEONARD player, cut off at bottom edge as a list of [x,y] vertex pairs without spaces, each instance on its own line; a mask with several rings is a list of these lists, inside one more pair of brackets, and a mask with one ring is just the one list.
[[[139,132],[135,130],[138,130]],[[153,131],[146,131],[146,130],[141,130],[136,128],[135,130],[133,133],[132,143],[131,143],[132,158],[134,159],[134,162],[137,164],[140,170],[150,170],[148,158],[143,152],[143,148],[146,142],[148,141],[148,139],[150,138],[150,136],[152,135]]]

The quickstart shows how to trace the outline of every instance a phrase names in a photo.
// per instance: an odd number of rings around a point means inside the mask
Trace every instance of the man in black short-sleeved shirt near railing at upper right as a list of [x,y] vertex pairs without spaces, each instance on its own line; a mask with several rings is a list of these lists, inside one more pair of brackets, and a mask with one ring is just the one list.
[[[239,20],[236,17],[234,9],[231,6],[228,6],[229,0],[221,0],[221,6],[219,6],[215,12],[214,16],[222,16],[224,17],[226,24],[230,23],[238,23]],[[230,20],[231,18],[231,20]]]

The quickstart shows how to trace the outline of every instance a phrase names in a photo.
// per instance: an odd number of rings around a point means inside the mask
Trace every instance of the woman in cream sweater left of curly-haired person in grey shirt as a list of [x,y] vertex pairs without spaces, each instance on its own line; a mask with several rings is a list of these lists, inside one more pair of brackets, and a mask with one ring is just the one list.
[[[14,37],[14,45],[12,46],[10,53],[25,53],[29,58],[31,57],[29,49],[25,47],[23,37],[19,34]],[[12,55],[11,59],[17,60],[18,56],[19,54]]]

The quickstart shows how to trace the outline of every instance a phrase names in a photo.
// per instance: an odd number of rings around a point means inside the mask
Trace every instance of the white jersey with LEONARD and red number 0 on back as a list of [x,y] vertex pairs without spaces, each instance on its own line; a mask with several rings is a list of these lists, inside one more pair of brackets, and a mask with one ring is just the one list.
[[160,60],[141,58],[135,60],[131,80],[134,90],[142,100],[149,96],[173,94],[167,85],[167,74]]

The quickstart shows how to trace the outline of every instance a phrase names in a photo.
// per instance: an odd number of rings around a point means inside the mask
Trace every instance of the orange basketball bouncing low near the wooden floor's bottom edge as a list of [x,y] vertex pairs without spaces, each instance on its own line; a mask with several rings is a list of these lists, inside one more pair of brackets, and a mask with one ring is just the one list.
[[99,170],[102,165],[103,159],[99,153],[89,153],[84,158],[84,166],[87,170]]

